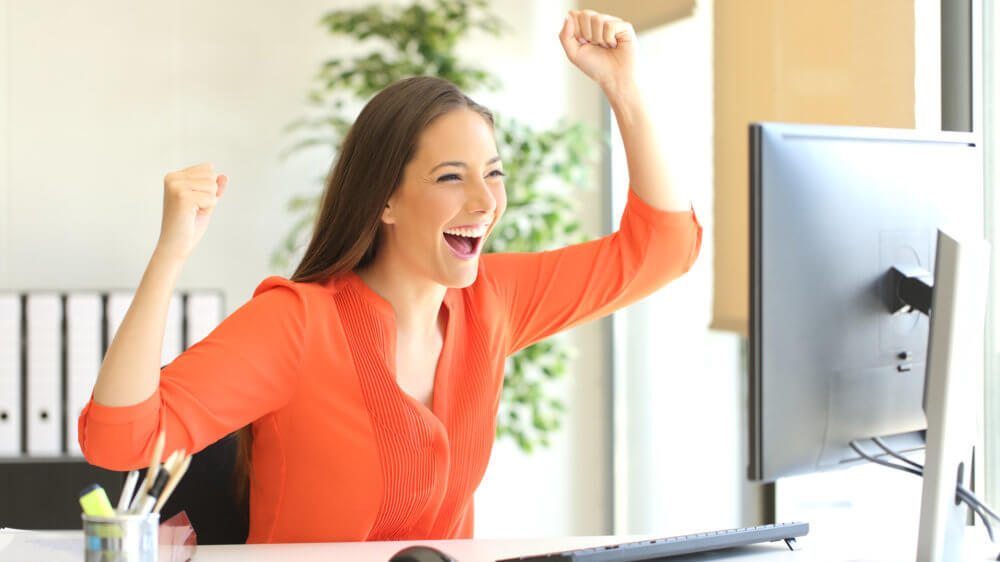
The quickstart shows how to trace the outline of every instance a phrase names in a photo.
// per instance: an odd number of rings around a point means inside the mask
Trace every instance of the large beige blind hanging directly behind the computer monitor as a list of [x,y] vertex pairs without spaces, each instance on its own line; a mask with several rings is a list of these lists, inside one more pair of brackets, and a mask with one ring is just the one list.
[[913,0],[718,0],[713,329],[747,333],[754,121],[914,127]]

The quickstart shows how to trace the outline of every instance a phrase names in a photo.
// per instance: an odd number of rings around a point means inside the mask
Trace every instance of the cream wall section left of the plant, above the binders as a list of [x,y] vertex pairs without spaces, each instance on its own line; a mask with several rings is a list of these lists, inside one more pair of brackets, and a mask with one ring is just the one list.
[[329,3],[5,3],[6,288],[134,287],[160,228],[163,176],[202,161],[230,176],[180,288],[227,308],[269,273],[293,191],[328,156],[276,154],[328,40]]

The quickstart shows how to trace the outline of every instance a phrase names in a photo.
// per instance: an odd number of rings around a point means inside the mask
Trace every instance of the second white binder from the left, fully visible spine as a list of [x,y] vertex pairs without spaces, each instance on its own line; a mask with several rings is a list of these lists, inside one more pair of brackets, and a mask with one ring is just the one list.
[[62,297],[27,296],[27,424],[29,455],[62,454]]

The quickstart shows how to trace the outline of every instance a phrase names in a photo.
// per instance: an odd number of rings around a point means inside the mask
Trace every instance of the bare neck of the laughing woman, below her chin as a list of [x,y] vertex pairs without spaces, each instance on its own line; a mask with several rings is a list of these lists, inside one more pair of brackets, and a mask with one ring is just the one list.
[[402,264],[376,259],[355,270],[372,291],[392,305],[396,330],[409,337],[431,338],[437,334],[441,303],[448,288],[415,276]]

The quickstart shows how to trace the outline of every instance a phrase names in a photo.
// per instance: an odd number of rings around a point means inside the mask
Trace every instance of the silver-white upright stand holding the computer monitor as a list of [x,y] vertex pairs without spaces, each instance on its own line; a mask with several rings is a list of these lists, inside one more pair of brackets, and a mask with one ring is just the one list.
[[924,381],[927,448],[917,561],[962,559],[968,508],[955,487],[971,487],[976,385],[983,373],[989,243],[938,230]]

